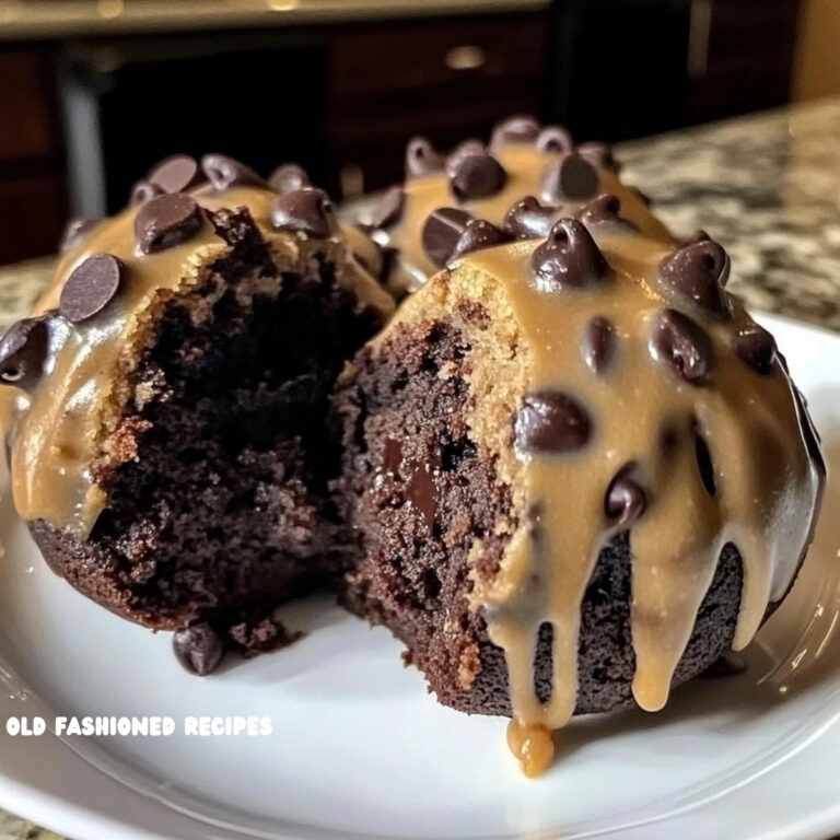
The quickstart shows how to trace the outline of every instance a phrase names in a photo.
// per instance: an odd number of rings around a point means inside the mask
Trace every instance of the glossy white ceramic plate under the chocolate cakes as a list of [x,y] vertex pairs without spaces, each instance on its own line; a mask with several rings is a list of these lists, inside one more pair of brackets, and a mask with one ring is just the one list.
[[[840,470],[840,337],[775,318]],[[840,472],[838,472],[840,475]],[[81,840],[818,838],[840,830],[840,482],[808,563],[748,651],[655,715],[575,721],[545,777],[504,721],[438,705],[400,646],[320,603],[291,649],[209,679],[54,576],[3,492],[0,806]],[[10,715],[257,715],[268,737],[11,737]]]

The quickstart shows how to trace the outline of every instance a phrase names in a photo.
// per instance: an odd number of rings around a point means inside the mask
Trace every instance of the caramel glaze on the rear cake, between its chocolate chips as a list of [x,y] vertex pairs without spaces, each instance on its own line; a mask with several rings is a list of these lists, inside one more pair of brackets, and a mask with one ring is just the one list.
[[409,177],[402,184],[402,206],[397,220],[374,233],[383,245],[396,248],[400,258],[395,265],[389,288],[397,294],[416,291],[438,270],[422,245],[422,229],[429,214],[443,207],[458,207],[478,219],[501,225],[508,211],[525,196],[535,196],[544,206],[551,206],[557,218],[576,214],[597,195],[610,194],[621,202],[622,217],[646,235],[674,242],[673,236],[648,207],[646,200],[634,188],[625,185],[612,167],[597,170],[598,186],[591,195],[567,198],[545,195],[545,182],[553,166],[564,155],[559,151],[541,151],[533,142],[517,142],[493,149],[492,156],[506,173],[504,185],[491,196],[459,199],[453,191],[445,172]]

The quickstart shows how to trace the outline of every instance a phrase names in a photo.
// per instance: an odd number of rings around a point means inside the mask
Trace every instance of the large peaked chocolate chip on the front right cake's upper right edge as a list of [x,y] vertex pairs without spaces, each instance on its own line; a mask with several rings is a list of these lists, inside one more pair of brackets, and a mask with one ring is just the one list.
[[723,287],[730,258],[716,242],[685,245],[660,262],[660,282],[678,298],[716,318],[727,318],[730,307]]

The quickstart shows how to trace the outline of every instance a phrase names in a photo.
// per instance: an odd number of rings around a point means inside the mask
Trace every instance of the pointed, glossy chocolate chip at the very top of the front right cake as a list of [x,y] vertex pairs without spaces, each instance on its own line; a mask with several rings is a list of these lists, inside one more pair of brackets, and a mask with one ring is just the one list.
[[592,234],[576,219],[561,219],[530,258],[540,291],[594,285],[609,273]]

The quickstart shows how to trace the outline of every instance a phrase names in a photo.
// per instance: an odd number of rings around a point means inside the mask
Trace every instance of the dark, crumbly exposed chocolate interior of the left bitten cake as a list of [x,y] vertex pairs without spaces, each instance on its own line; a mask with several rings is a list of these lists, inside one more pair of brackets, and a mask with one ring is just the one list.
[[214,224],[232,254],[166,305],[116,434],[136,457],[98,476],[109,501],[90,541],[37,528],[47,559],[93,597],[119,592],[150,627],[208,621],[248,653],[284,642],[271,610],[347,560],[328,395],[377,324],[329,262],[280,276],[246,212]]

